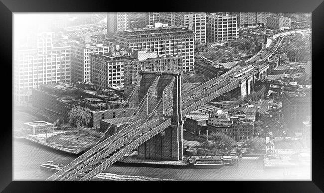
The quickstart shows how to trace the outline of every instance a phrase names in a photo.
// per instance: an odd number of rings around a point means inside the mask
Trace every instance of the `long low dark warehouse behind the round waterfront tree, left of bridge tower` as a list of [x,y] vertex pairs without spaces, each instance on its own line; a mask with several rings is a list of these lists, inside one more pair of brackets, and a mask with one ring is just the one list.
[[91,114],[88,126],[93,128],[99,128],[102,119],[133,116],[136,109],[112,90],[82,90],[70,84],[41,85],[32,90],[32,95],[33,107],[54,112],[66,121],[74,106],[86,108]]

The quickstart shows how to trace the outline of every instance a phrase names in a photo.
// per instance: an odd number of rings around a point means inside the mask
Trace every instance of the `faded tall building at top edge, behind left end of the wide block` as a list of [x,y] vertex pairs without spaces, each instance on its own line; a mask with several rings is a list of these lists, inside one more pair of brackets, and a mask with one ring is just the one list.
[[107,13],[107,35],[109,37],[125,29],[141,28],[145,25],[147,25],[147,13]]

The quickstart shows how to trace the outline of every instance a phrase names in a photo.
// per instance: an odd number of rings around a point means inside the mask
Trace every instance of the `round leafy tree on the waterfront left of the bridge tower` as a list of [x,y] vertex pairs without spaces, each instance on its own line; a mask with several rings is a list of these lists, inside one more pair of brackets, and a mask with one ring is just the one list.
[[68,113],[69,123],[74,128],[84,127],[89,124],[91,114],[80,106],[73,107]]

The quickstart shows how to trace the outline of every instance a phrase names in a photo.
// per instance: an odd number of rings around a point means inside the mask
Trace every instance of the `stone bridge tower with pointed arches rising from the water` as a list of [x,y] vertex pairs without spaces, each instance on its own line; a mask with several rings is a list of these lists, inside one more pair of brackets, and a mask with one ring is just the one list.
[[[154,160],[182,160],[183,159],[183,118],[182,118],[182,98],[181,98],[181,72],[157,72],[141,71],[140,98],[143,97],[150,87],[150,83],[159,77],[156,88],[156,100],[147,100],[147,105],[157,104],[157,100],[163,97],[163,91],[173,79],[174,86],[172,90],[172,118],[171,126],[151,139],[138,146],[138,157],[140,159]],[[162,100],[164,101],[164,99]],[[164,111],[164,110],[163,110]]]

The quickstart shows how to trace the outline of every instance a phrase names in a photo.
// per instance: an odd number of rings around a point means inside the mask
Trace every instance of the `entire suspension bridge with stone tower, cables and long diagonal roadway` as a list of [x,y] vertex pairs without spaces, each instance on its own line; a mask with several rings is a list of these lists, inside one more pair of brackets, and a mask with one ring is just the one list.
[[225,93],[249,95],[256,79],[280,65],[288,39],[286,34],[274,38],[258,55],[259,60],[232,68],[195,88],[183,84],[181,72],[140,71],[127,98],[137,104],[128,123],[47,180],[90,180],[136,148],[140,158],[182,160],[183,117]]

